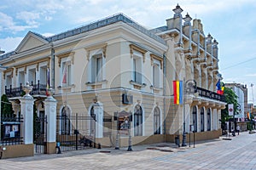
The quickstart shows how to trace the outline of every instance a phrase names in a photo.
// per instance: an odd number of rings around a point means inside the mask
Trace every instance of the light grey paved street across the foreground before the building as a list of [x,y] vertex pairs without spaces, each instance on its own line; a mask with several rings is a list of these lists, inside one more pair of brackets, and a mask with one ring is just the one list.
[[[148,144],[120,150],[88,149],[0,160],[0,169],[256,169],[256,133],[240,133],[177,148]],[[109,153],[108,153],[109,152]]]

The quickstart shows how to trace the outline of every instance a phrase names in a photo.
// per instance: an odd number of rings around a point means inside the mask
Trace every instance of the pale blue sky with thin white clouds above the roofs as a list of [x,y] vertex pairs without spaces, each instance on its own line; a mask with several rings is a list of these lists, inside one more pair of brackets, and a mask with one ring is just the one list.
[[164,26],[177,3],[217,39],[224,82],[247,84],[256,105],[256,0],[1,0],[0,48],[15,50],[27,31],[51,36],[117,13],[148,29]]

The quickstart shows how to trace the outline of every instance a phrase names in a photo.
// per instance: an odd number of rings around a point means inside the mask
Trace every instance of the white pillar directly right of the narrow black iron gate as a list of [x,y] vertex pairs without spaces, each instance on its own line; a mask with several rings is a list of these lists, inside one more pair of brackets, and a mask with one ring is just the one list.
[[44,111],[47,116],[47,142],[56,141],[56,105],[57,101],[52,96],[44,100]]

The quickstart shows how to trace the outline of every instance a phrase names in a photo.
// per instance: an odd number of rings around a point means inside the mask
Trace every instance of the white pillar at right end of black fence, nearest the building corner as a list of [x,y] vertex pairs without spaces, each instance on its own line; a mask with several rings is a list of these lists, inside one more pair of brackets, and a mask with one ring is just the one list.
[[94,113],[96,115],[96,138],[103,137],[103,109],[102,104],[94,105]]

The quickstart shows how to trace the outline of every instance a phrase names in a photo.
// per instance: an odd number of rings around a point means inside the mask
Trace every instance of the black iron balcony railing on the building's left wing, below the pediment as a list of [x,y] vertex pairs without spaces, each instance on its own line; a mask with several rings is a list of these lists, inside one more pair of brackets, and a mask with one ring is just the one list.
[[[23,88],[24,85],[20,83],[20,87],[13,88],[12,85],[8,88],[5,86],[5,94],[9,98],[14,98],[14,97],[20,97],[21,94],[23,93]],[[46,95],[46,84],[40,84],[39,80],[37,84],[33,84],[33,82],[30,84],[32,86],[32,92],[30,93],[31,95]]]

